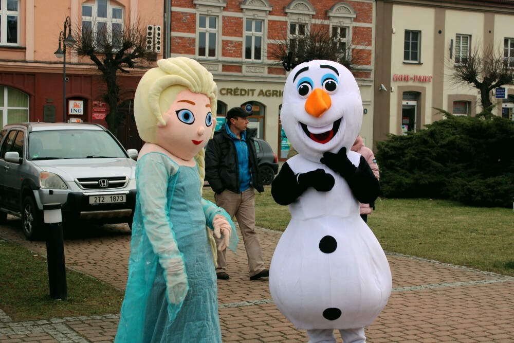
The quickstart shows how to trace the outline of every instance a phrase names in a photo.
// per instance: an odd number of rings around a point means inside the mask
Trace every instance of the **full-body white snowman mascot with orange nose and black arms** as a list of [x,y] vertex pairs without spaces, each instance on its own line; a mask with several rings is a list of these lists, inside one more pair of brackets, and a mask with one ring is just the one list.
[[366,160],[350,150],[362,123],[359,87],[339,63],[314,60],[291,70],[282,127],[298,151],[271,194],[291,221],[274,251],[269,288],[278,309],[309,343],[365,342],[364,327],[391,293],[391,270],[359,215],[380,191]]

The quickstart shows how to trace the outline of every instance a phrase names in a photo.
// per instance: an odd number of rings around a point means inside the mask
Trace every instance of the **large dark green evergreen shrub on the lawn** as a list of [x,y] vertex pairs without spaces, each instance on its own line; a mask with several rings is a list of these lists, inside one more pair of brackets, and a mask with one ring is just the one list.
[[444,115],[425,130],[377,142],[382,195],[512,206],[514,121]]

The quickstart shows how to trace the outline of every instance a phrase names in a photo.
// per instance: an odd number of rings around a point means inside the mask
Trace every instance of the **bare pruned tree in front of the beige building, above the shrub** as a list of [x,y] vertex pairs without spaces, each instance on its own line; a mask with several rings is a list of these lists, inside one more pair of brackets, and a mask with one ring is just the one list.
[[[457,57],[456,57],[457,58]],[[480,91],[480,103],[484,117],[492,116],[494,105],[490,94],[492,89],[514,82],[514,60],[504,57],[503,51],[492,47],[481,50],[475,47],[467,57],[458,57],[453,63],[452,76],[457,83],[472,85]]]

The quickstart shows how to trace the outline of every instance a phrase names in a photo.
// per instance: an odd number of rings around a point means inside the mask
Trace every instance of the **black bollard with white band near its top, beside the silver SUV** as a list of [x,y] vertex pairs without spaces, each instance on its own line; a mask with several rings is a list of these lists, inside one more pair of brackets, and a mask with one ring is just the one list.
[[50,297],[65,300],[66,265],[64,263],[64,240],[61,204],[43,205],[46,233],[46,256],[48,259],[48,281]]

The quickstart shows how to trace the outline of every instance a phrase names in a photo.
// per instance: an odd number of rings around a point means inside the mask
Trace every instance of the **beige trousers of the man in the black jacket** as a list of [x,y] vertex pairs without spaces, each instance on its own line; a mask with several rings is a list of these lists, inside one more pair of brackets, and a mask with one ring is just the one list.
[[[245,243],[246,255],[248,256],[248,274],[254,276],[261,273],[264,268],[259,233],[255,232],[255,189],[248,188],[243,193],[234,193],[225,190],[220,194],[214,194],[216,205],[222,207],[230,215],[230,218],[237,219],[241,230],[241,237]],[[220,240],[216,239],[216,245]],[[218,267],[216,273],[227,270],[225,253],[227,250],[217,251]]]

